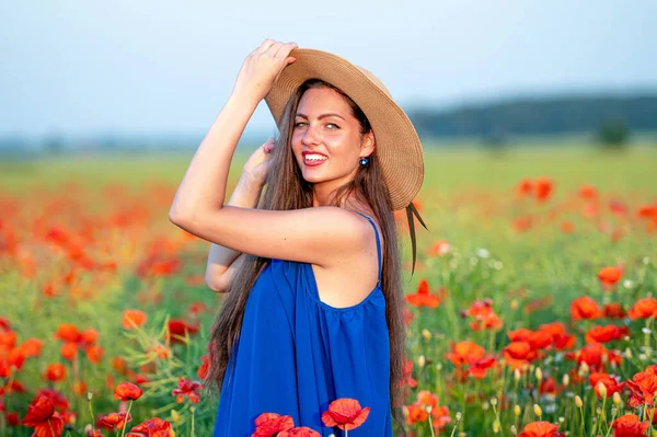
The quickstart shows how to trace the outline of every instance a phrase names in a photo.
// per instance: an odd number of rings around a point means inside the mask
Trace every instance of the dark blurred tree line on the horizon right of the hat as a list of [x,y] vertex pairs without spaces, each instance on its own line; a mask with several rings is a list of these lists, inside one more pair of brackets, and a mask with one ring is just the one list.
[[425,137],[480,137],[499,143],[507,136],[588,131],[601,142],[618,143],[630,131],[657,131],[657,93],[517,99],[442,111],[416,108],[408,116]]

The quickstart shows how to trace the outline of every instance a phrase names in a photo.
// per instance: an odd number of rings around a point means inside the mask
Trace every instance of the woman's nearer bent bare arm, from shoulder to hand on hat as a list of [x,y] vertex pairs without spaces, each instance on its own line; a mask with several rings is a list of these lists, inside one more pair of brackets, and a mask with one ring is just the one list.
[[223,205],[238,140],[280,71],[296,60],[288,56],[295,47],[267,39],[246,57],[233,92],[189,163],[169,218],[238,252],[330,266],[364,246],[369,229],[360,216],[328,206],[281,211]]

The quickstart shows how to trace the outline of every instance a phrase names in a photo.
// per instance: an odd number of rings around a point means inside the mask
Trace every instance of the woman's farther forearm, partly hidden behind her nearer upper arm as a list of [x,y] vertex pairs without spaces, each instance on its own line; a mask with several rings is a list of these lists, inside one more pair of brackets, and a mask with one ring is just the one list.
[[[247,177],[240,177],[228,205],[241,208],[255,208],[262,193],[262,185]],[[240,252],[216,243],[211,243],[208,254],[206,277],[211,279],[222,275],[228,267],[240,256]]]

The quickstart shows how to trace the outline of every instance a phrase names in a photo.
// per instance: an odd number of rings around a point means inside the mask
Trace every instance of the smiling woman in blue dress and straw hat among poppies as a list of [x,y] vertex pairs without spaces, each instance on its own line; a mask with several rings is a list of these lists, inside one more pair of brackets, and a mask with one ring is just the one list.
[[[224,205],[262,99],[278,139],[251,156]],[[370,409],[350,436],[392,435],[405,337],[393,211],[406,207],[415,258],[423,177],[413,125],[367,70],[272,39],[246,57],[169,214],[215,243],[207,281],[228,291],[206,381],[221,388],[215,437],[251,436],[262,413],[342,436],[321,418],[342,398]]]

